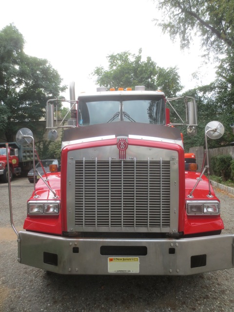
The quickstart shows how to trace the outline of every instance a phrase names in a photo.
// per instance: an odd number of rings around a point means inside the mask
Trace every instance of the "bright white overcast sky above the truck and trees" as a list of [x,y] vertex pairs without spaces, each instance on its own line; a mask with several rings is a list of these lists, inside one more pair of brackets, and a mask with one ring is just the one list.
[[[155,26],[160,12],[153,0],[11,0],[1,2],[0,30],[14,23],[25,39],[24,52],[47,59],[63,84],[75,81],[76,97],[96,91],[91,73],[108,69],[107,56],[123,51],[151,57],[160,67],[178,67],[184,90],[214,80],[212,66],[204,68],[199,40],[189,51]],[[192,74],[200,70],[199,80]],[[69,98],[69,91],[63,94]]]

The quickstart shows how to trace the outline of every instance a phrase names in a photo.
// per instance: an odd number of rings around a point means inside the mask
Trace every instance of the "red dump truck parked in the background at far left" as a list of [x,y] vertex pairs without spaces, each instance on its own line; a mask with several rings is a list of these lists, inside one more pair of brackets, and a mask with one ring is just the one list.
[[[6,157],[6,144],[0,143],[0,178],[8,182],[8,166]],[[33,165],[33,148],[21,146],[17,142],[8,143],[10,180],[19,176],[23,171],[29,171]]]

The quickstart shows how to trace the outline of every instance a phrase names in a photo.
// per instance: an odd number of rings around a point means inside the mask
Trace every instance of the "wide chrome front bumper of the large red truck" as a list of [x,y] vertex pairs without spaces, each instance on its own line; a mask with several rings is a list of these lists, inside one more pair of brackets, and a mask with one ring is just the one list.
[[[234,235],[78,239],[20,232],[19,236],[20,263],[60,274],[191,275],[234,267]],[[115,259],[113,267],[110,261]],[[129,264],[121,266],[118,261]]]

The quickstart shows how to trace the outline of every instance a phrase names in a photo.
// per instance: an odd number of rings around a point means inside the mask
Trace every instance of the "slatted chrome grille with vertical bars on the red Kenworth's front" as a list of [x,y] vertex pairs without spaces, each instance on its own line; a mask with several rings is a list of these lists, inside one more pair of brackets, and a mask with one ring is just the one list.
[[76,160],[75,227],[168,231],[170,166],[169,160]]

